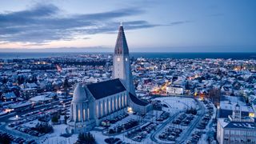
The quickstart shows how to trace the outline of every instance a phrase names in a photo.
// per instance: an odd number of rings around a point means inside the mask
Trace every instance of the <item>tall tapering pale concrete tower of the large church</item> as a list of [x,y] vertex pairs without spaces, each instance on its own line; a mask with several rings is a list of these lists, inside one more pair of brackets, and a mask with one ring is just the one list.
[[119,78],[126,90],[135,95],[133,77],[130,70],[129,50],[122,24],[119,26],[118,38],[114,48],[113,75]]

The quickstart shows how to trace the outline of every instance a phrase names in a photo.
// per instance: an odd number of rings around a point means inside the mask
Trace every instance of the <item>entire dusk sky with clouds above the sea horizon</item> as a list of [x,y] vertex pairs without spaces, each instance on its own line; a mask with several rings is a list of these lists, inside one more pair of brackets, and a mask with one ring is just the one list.
[[254,0],[1,0],[1,51],[256,52]]

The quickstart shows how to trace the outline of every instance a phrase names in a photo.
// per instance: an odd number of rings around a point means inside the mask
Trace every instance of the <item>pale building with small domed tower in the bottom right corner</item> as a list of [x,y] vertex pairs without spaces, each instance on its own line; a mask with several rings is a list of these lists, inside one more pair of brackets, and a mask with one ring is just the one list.
[[241,107],[234,105],[228,118],[218,118],[217,140],[226,143],[255,143],[256,126],[254,118],[242,117]]

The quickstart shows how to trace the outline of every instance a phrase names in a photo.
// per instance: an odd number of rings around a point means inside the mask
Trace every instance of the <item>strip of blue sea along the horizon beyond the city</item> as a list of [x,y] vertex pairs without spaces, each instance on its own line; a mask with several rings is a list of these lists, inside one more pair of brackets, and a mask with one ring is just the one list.
[[[26,59],[26,58],[52,58],[52,57],[66,57],[66,56],[75,56],[81,54],[112,54],[110,52],[94,52],[94,53],[86,53],[86,52],[4,52],[0,53],[0,59]],[[197,53],[184,53],[184,52],[134,52],[130,53],[130,57],[134,58],[232,58],[232,59],[256,59],[256,53],[230,53],[230,52],[197,52]]]

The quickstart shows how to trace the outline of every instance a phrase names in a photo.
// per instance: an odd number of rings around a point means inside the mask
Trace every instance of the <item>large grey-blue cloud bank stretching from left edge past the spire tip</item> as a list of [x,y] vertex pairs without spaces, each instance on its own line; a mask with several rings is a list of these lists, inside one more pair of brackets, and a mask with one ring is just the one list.
[[[70,41],[78,35],[113,33],[118,19],[142,14],[130,7],[95,14],[63,14],[57,6],[37,4],[29,10],[0,14],[0,42],[22,42],[37,45]],[[150,28],[154,25],[138,20],[125,22],[127,30]]]

